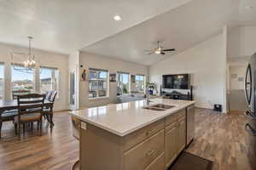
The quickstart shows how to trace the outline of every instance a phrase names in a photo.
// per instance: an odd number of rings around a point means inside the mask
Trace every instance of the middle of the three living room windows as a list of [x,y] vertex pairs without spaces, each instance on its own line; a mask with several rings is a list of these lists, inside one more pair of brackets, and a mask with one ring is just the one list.
[[130,92],[130,74],[129,73],[118,73],[118,94],[129,94]]

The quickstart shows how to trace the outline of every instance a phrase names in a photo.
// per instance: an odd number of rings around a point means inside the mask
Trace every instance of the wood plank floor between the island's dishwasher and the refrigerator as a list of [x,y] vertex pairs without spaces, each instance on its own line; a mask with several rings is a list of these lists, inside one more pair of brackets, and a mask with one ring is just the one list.
[[212,170],[253,170],[247,159],[246,122],[242,114],[197,109],[195,140],[187,151],[214,161]]

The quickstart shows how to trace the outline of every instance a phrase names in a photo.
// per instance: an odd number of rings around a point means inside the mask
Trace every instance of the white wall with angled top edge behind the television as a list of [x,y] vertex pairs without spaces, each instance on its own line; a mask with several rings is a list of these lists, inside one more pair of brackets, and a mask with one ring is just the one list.
[[226,64],[224,34],[220,34],[150,66],[150,82],[160,87],[162,75],[189,73],[196,106],[212,109],[212,104],[221,104],[225,111]]

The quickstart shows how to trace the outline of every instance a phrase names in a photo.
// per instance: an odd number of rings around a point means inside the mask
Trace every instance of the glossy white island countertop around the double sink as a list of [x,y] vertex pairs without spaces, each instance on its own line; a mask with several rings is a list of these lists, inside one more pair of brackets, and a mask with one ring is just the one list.
[[166,111],[152,111],[143,109],[147,106],[145,100],[127,102],[116,105],[105,105],[78,111],[69,111],[83,122],[90,123],[96,127],[107,130],[121,137],[156,122],[166,116],[180,111],[195,101],[173,100],[173,99],[150,99],[150,105],[165,104],[174,105]]

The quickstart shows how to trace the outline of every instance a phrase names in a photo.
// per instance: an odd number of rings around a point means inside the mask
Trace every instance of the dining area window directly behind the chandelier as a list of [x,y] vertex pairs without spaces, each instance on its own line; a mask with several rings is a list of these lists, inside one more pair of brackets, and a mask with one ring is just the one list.
[[29,71],[22,65],[12,65],[12,94],[32,94],[34,91],[34,70]]

